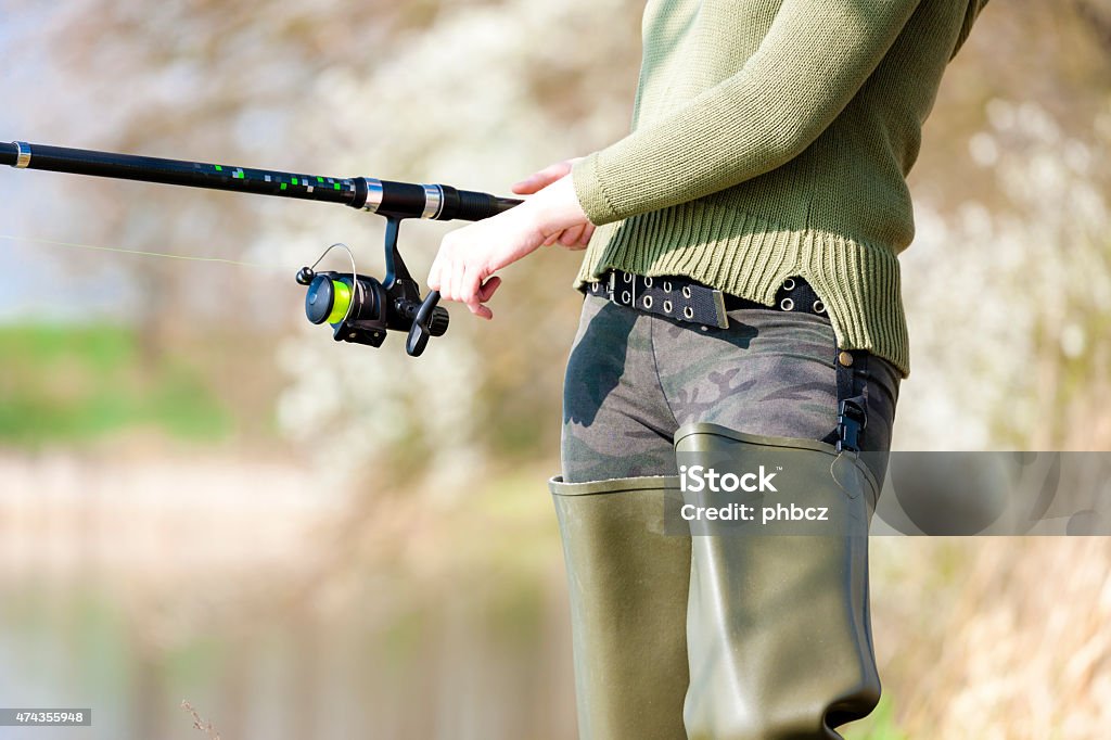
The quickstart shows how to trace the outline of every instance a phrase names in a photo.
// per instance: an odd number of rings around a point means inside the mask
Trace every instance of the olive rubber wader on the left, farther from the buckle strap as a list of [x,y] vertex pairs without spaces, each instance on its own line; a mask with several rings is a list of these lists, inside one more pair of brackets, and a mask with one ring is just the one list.
[[550,481],[563,538],[582,740],[679,740],[689,537],[663,533],[675,477]]

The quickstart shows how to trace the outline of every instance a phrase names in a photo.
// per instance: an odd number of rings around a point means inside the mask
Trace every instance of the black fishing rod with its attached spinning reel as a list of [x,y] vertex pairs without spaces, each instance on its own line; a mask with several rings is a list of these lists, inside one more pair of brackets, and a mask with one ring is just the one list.
[[406,351],[411,357],[419,357],[431,337],[441,337],[448,331],[450,317],[447,309],[437,304],[440,292],[433,290],[421,298],[418,282],[406,268],[398,251],[401,221],[480,221],[521,203],[512,198],[459,190],[446,184],[413,184],[364,177],[329,178],[24,141],[0,142],[0,164],[341,203],[384,217],[386,277],[381,281],[359,274],[353,257],[350,273],[317,272],[317,264],[340,246],[333,244],[316,263],[298,271],[297,282],[308,289],[304,312],[309,321],[329,323],[336,341],[380,347],[386,341],[387,331],[404,331],[408,332]]

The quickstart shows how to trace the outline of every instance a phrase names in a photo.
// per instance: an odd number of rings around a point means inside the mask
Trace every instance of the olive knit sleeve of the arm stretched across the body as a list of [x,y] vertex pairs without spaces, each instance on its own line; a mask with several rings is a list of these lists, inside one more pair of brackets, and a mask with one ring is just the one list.
[[784,0],[732,77],[574,166],[607,223],[732,187],[790,161],[852,100],[919,0]]

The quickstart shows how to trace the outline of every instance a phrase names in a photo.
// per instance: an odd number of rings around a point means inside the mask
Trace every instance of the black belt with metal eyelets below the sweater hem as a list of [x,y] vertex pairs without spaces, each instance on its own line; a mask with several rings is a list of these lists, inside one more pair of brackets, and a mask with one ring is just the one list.
[[801,311],[827,316],[822,300],[802,278],[788,278],[775,293],[774,306],[764,306],[758,301],[723,293],[690,278],[680,276],[645,278],[620,270],[608,270],[602,273],[602,279],[588,283],[583,292],[647,313],[719,329],[729,327],[729,317],[725,313],[738,309]]

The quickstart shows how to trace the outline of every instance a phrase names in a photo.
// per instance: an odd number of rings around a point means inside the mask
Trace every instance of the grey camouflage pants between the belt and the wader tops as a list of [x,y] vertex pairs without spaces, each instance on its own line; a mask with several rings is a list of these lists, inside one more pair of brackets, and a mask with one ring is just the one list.
[[[563,480],[678,474],[672,437],[697,421],[829,441],[837,346],[828,317],[741,309],[729,318],[727,329],[703,330],[588,296],[563,387]],[[854,379],[868,412],[861,449],[887,451],[900,376],[877,357],[867,368]]]

